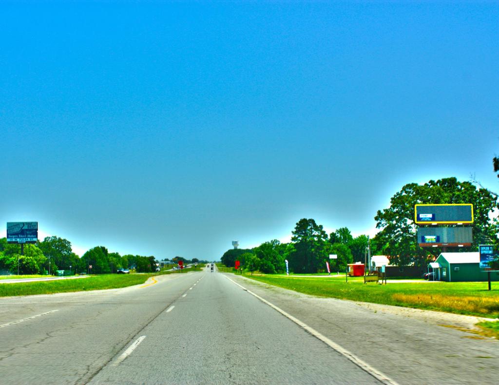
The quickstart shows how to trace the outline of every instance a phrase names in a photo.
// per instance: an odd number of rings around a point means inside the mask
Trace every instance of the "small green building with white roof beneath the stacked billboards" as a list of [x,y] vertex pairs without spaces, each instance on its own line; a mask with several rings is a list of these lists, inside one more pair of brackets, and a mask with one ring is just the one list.
[[[480,282],[488,281],[487,272],[480,268],[480,254],[441,253],[435,262],[428,264],[428,272],[435,273],[436,281]],[[491,273],[492,281],[499,281],[499,272]]]

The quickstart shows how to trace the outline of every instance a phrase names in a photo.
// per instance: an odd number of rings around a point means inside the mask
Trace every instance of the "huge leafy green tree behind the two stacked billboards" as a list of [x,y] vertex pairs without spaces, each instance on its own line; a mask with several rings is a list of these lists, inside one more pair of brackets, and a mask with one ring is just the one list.
[[[375,220],[381,231],[376,235],[375,243],[382,247],[382,252],[399,265],[415,262],[425,265],[430,251],[438,255],[441,250],[419,247],[416,239],[417,226],[414,223],[414,205],[417,203],[473,203],[475,221],[473,227],[473,245],[498,243],[499,221],[491,214],[499,209],[497,196],[486,189],[477,189],[470,182],[459,182],[456,178],[429,181],[424,185],[410,183],[402,187],[390,199],[390,207],[378,210]],[[463,248],[448,251],[462,251]]]

